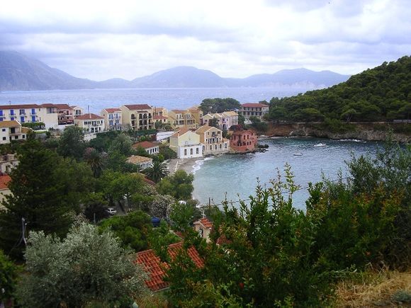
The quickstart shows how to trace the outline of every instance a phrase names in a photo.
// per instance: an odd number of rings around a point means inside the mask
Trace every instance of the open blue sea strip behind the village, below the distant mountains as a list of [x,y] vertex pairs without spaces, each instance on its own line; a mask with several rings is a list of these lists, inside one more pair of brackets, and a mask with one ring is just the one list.
[[0,105],[26,103],[67,103],[79,105],[99,114],[103,108],[123,104],[147,103],[167,109],[184,109],[200,105],[204,98],[231,97],[240,103],[270,101],[274,96],[293,96],[308,88],[184,88],[184,89],[91,89],[53,91],[9,91],[0,93]]

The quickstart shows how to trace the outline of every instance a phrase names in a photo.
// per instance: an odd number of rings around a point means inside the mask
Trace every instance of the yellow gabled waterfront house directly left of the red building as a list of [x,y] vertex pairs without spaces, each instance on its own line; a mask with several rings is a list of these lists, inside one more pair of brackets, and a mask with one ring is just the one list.
[[223,131],[217,127],[203,125],[198,127],[196,134],[203,144],[203,155],[223,154],[230,149],[230,140],[223,138]]

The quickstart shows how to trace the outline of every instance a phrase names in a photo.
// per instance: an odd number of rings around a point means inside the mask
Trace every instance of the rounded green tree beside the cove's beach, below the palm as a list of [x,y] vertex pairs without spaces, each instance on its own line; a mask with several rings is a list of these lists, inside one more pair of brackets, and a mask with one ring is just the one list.
[[166,176],[157,184],[157,191],[162,195],[171,195],[176,200],[191,199],[194,176],[184,170],[177,170],[171,176]]

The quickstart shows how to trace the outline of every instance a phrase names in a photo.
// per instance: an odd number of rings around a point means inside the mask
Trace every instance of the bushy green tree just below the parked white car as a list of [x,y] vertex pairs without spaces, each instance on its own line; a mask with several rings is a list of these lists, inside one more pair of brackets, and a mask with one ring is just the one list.
[[103,232],[111,229],[124,248],[143,251],[148,247],[148,235],[152,229],[151,218],[140,210],[130,212],[126,216],[114,216],[104,219],[98,229]]

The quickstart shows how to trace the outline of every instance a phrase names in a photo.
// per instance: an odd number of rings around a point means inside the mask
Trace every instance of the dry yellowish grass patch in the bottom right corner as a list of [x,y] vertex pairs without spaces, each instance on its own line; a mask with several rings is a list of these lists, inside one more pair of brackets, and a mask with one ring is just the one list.
[[[411,307],[411,269],[356,273],[337,285],[337,307]],[[408,306],[410,305],[410,306]]]

